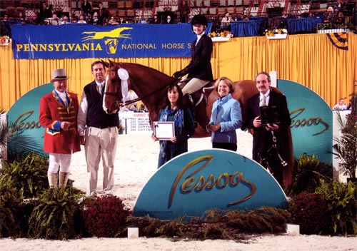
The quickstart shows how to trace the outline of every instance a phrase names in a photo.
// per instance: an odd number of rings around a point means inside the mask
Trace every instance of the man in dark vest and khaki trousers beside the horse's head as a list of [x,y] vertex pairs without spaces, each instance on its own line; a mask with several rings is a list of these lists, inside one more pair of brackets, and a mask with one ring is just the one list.
[[101,61],[91,64],[94,81],[84,86],[78,113],[79,140],[84,145],[89,177],[87,195],[97,194],[99,162],[103,163],[103,192],[112,194],[114,160],[119,136],[118,113],[106,114],[102,108],[106,68]]

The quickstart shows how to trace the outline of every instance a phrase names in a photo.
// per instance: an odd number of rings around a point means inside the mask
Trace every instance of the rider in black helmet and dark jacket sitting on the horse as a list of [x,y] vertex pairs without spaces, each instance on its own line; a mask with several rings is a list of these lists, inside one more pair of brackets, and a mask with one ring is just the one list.
[[181,78],[188,73],[189,80],[182,88],[183,95],[192,94],[213,81],[211,66],[213,43],[212,39],[204,33],[207,25],[206,16],[201,14],[193,16],[191,26],[197,39],[191,44],[191,62],[173,75],[174,78]]

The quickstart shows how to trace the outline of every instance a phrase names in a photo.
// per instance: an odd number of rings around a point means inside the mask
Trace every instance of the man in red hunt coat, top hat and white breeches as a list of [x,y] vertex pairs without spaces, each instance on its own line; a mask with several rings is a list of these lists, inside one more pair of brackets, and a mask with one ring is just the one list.
[[50,188],[57,186],[58,172],[59,187],[66,186],[72,153],[81,150],[77,133],[78,97],[67,91],[67,80],[65,69],[52,71],[54,91],[40,101],[39,122],[45,128],[44,152],[49,153]]

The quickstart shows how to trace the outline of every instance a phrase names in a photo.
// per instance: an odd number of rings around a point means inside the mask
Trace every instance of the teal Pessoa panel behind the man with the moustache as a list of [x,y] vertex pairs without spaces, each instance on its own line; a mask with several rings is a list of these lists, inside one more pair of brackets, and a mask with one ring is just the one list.
[[306,86],[278,79],[278,88],[285,94],[291,116],[293,153],[316,155],[323,163],[332,165],[332,111],[326,101]]

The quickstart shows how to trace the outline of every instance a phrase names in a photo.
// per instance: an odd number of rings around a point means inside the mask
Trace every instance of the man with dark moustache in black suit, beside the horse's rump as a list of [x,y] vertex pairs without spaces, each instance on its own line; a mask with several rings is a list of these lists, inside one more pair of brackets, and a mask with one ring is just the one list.
[[[264,71],[258,73],[256,88],[259,93],[248,99],[246,127],[253,129],[253,160],[267,168],[284,188],[283,168],[287,168],[285,165],[289,162],[290,150],[284,146],[284,140],[288,139],[291,118],[286,97],[273,91],[270,86],[269,74]],[[268,106],[268,108],[275,106],[278,122],[263,124],[260,106]],[[274,138],[276,142],[274,142]],[[274,145],[276,148],[273,147]]]

